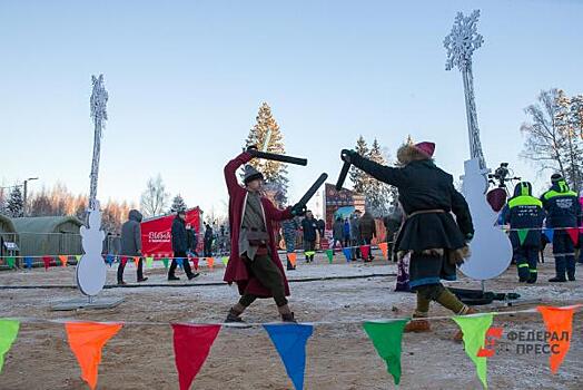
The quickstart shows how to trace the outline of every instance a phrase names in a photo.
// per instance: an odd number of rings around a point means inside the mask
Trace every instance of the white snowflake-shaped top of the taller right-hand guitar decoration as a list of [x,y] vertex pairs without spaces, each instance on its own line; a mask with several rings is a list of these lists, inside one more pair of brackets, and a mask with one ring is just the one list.
[[451,70],[456,66],[460,70],[467,70],[472,64],[472,55],[484,42],[484,38],[477,33],[477,19],[480,10],[474,10],[470,17],[457,12],[452,32],[445,37],[443,46],[447,49],[445,69]]

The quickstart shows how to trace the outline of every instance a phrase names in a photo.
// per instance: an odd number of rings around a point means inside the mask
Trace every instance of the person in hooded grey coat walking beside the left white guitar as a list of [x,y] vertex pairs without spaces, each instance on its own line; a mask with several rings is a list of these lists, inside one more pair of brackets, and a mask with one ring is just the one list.
[[141,213],[137,209],[130,209],[128,221],[121,225],[121,248],[120,255],[126,256],[126,261],[120,261],[118,266],[118,284],[123,285],[123,270],[126,267],[127,257],[139,256],[137,280],[146,282],[148,277],[144,277],[144,260],[141,259]]

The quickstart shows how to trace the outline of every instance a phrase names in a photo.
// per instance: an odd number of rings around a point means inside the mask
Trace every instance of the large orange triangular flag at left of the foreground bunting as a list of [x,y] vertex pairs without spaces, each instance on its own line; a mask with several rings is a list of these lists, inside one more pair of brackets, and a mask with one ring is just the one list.
[[101,349],[123,324],[99,322],[67,322],[65,329],[69,347],[81,367],[81,378],[91,389],[97,386]]

